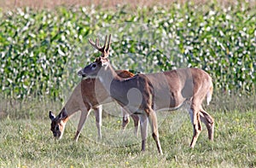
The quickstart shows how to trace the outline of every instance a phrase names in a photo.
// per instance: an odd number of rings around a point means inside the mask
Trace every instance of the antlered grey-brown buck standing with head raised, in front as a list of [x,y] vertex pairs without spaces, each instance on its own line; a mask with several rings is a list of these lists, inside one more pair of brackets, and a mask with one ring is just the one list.
[[108,61],[111,35],[105,39],[101,47],[89,39],[90,44],[102,52],[96,61],[81,69],[78,74],[89,78],[99,78],[110,96],[131,113],[137,113],[140,119],[142,151],[145,150],[148,121],[158,152],[160,146],[156,111],[176,110],[185,102],[189,102],[189,114],[194,128],[190,148],[201,133],[201,121],[207,126],[208,137],[213,141],[214,120],[202,107],[201,103],[207,97],[207,104],[212,98],[212,78],[207,72],[197,68],[183,68],[168,72],[137,74],[131,78],[121,78],[113,70]]

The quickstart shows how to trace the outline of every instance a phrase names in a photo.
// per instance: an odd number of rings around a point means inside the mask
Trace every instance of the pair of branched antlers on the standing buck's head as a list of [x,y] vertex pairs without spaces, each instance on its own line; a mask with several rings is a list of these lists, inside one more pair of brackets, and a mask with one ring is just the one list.
[[[107,38],[108,38],[108,46],[107,46],[107,49],[106,49]],[[100,46],[99,38],[96,38],[96,43],[94,43],[94,42],[89,38],[89,43],[90,43],[90,45],[92,45],[95,49],[97,49],[98,51],[102,52],[102,55],[101,55],[102,57],[108,57],[108,55],[109,55],[109,49],[110,49],[110,43],[111,43],[111,34],[109,34],[109,37],[108,37],[108,35],[106,36],[106,38],[105,38],[105,43],[104,43],[104,46],[103,46],[103,47]]]

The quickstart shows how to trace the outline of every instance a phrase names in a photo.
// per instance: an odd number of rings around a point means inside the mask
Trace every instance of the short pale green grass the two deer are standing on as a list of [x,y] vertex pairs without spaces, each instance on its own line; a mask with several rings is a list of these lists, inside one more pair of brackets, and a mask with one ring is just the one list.
[[[119,118],[103,119],[103,139],[96,142],[94,115],[90,115],[79,142],[73,142],[79,115],[68,121],[61,141],[53,139],[46,112],[42,116],[40,110],[34,111],[26,119],[6,117],[0,123],[0,167],[255,167],[256,110],[209,113],[216,121],[215,141],[207,140],[204,126],[194,149],[189,148],[192,126],[188,113],[172,112],[163,119],[159,113],[163,156],[157,153],[151,136],[147,151],[141,153],[141,140],[132,134],[132,122],[121,135]],[[124,142],[124,137],[133,142]]]

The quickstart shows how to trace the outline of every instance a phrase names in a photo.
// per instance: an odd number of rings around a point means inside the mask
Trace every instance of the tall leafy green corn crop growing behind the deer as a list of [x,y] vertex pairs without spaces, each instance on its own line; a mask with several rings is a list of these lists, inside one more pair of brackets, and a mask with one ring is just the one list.
[[3,10],[1,95],[63,100],[63,88],[70,90],[79,80],[79,67],[99,55],[88,38],[103,41],[108,33],[116,69],[200,67],[211,74],[219,93],[254,95],[255,18],[255,8],[246,2]]

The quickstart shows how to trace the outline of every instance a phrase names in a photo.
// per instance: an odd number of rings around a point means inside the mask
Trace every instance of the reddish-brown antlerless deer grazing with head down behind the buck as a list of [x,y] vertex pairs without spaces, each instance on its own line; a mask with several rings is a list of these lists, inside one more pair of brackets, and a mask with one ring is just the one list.
[[[121,78],[129,78],[134,76],[131,72],[116,71]],[[102,125],[102,104],[113,101],[108,95],[108,92],[104,89],[100,82],[96,82],[97,79],[86,78],[82,80],[76,88],[73,90],[72,95],[61,109],[61,113],[55,117],[55,115],[49,111],[49,119],[51,119],[51,128],[53,135],[57,139],[61,139],[67,120],[78,111],[81,111],[79,119],[78,130],[74,136],[74,140],[78,141],[79,134],[84,126],[84,122],[90,114],[90,110],[94,109],[96,115],[96,127],[98,130],[98,139],[102,139],[101,125]],[[100,92],[99,96],[96,92]],[[129,123],[127,112],[122,109],[123,112],[123,129]],[[134,120],[135,134],[137,134],[138,117],[137,115],[131,115]]]

